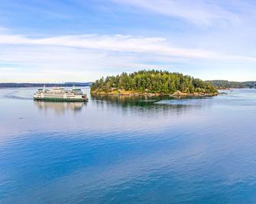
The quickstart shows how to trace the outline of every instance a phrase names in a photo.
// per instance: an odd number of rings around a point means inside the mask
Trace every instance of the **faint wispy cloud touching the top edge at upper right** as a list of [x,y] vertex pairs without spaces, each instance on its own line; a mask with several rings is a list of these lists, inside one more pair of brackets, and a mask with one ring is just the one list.
[[215,21],[228,21],[235,24],[240,21],[238,15],[222,8],[219,1],[209,0],[112,0],[118,4],[144,8],[165,16],[183,18],[193,24],[207,25]]

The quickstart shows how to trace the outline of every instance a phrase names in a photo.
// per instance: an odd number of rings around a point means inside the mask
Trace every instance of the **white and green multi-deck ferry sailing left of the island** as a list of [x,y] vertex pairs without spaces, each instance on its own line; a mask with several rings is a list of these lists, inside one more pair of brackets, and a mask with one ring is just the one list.
[[87,102],[88,97],[83,94],[80,88],[73,87],[71,90],[65,88],[47,89],[39,88],[34,94],[34,100],[40,101],[60,101],[60,102]]

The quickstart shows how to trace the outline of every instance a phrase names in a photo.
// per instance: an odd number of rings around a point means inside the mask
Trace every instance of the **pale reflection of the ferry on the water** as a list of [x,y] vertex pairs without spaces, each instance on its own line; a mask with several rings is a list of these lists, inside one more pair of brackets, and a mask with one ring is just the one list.
[[65,113],[68,110],[80,112],[86,103],[83,102],[48,102],[48,101],[34,101],[34,104],[40,110],[53,110],[54,113]]

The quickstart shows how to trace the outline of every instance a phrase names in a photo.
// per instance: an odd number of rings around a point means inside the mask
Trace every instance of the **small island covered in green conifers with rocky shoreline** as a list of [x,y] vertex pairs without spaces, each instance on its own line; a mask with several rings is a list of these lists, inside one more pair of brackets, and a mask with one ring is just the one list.
[[91,85],[92,94],[215,96],[211,83],[176,72],[142,70],[100,78]]

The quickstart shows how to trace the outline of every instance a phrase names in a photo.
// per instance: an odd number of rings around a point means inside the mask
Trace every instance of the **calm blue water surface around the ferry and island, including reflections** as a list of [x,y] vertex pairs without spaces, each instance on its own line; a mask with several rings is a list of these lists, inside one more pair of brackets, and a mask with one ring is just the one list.
[[0,90],[0,203],[256,202],[255,89],[87,104],[35,90]]

